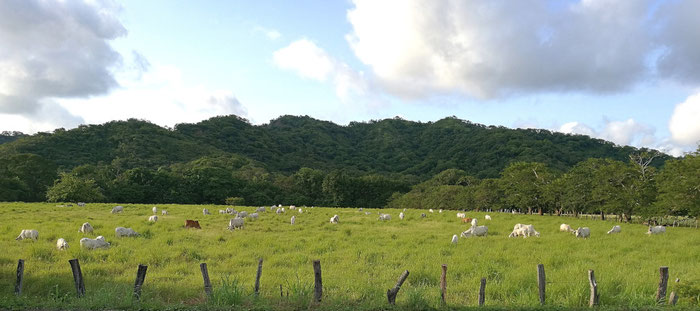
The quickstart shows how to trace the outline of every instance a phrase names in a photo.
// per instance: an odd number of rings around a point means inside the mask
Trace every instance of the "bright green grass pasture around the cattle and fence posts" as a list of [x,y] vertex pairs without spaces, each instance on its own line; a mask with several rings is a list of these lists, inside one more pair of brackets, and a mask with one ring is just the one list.
[[[442,264],[448,265],[447,307],[474,307],[479,280],[487,278],[486,305],[496,308],[539,306],[536,266],[544,264],[547,305],[586,307],[587,271],[595,270],[601,306],[654,307],[659,267],[669,266],[669,290],[680,293],[679,308],[697,308],[700,296],[700,231],[668,228],[647,236],[642,225],[621,224],[622,233],[606,235],[614,222],[537,215],[470,213],[489,227],[488,237],[460,238],[468,228],[454,211],[433,214],[382,210],[392,220],[377,220],[378,210],[305,208],[303,214],[267,212],[246,219],[243,230],[229,231],[230,215],[221,206],[158,205],[159,221],[147,222],[153,205],[115,204],[57,207],[56,204],[0,203],[0,308],[79,309],[386,309],[387,289],[403,270],[410,275],[398,294],[397,308],[439,309]],[[206,207],[212,215],[203,216]],[[168,216],[161,216],[166,209]],[[237,207],[249,213],[254,207]],[[428,214],[421,218],[420,213]],[[340,216],[339,224],[329,218]],[[296,224],[289,220],[296,216]],[[199,220],[202,230],[183,228]],[[78,232],[90,222],[95,233]],[[559,232],[562,222],[591,228],[589,239]],[[540,238],[508,238],[516,223],[534,224]],[[131,227],[136,238],[116,238],[114,228]],[[15,241],[22,229],[36,229],[39,240]],[[102,235],[111,248],[81,250],[79,239]],[[56,249],[65,238],[70,248]],[[18,259],[25,259],[23,294],[14,296]],[[87,294],[75,298],[68,260],[81,263]],[[264,259],[260,297],[253,296],[258,258]],[[323,301],[311,304],[312,261],[323,270]],[[207,299],[199,264],[206,262],[214,286]],[[132,299],[139,264],[148,265],[140,302]],[[680,278],[680,283],[673,280]],[[280,297],[280,284],[285,297]],[[287,296],[288,293],[288,296]]]

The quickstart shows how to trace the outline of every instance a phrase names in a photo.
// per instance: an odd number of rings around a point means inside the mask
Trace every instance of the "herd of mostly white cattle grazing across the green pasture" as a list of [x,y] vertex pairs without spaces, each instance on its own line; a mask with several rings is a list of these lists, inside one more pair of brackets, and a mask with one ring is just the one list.
[[[84,203],[82,204],[84,206]],[[313,208],[313,206],[311,207]],[[121,213],[124,211],[123,206],[115,206],[112,208],[111,213],[116,214],[116,213]],[[158,213],[158,208],[153,207],[152,208],[153,215],[149,216],[148,221],[149,222],[157,222],[158,221],[158,216],[156,214]],[[231,218],[228,223],[228,229],[229,230],[238,230],[238,229],[243,229],[245,226],[245,218],[255,220],[258,219],[259,215],[262,213],[266,213],[268,210],[265,207],[259,207],[255,210],[254,213],[248,214],[246,211],[236,211],[233,208],[226,208],[225,210],[219,210],[219,214],[227,214],[227,215],[235,215],[234,218]],[[283,214],[286,212],[285,208],[282,207],[281,205],[273,205],[269,209],[270,212],[274,211],[276,214]],[[289,206],[289,211],[296,211],[299,214],[304,213],[304,211],[301,208],[298,208],[294,205]],[[359,209],[360,212],[363,211],[362,208]],[[406,215],[405,215],[406,209],[404,209],[402,212],[399,213],[399,219],[403,220]],[[434,211],[431,209],[428,212],[433,213]],[[442,210],[439,210],[439,213],[442,213]],[[204,208],[202,210],[202,214],[204,216],[211,215],[208,209]],[[371,212],[364,212],[365,215],[370,215],[372,214]],[[161,210],[161,215],[166,216],[168,215],[168,212],[166,210]],[[421,218],[425,218],[426,214],[422,213]],[[485,237],[488,235],[488,227],[483,226],[483,225],[478,225],[478,220],[477,218],[470,218],[467,217],[465,212],[458,212],[457,217],[463,222],[463,223],[469,223],[471,227],[467,229],[466,231],[462,232],[459,236],[464,237],[464,238],[469,238],[469,237]],[[379,213],[379,220],[381,221],[389,221],[391,220],[391,215],[390,214],[384,214],[384,213]],[[484,219],[487,221],[491,221],[492,218],[490,215],[485,215]],[[296,216],[291,217],[290,223],[294,225],[296,222]],[[330,223],[331,224],[338,224],[340,222],[340,217],[338,215],[333,215],[333,217],[330,218]],[[202,227],[199,225],[199,222],[197,220],[186,220],[185,221],[185,228],[194,228],[194,229],[201,229]],[[82,226],[80,226],[79,232],[84,233],[84,234],[89,234],[93,233],[94,229],[90,223],[83,223]],[[131,228],[124,228],[124,227],[116,227],[114,229],[115,231],[115,237],[121,238],[121,237],[136,237],[139,236],[139,233],[134,231]],[[578,227],[576,230],[574,230],[570,225],[568,224],[561,224],[559,226],[559,231],[561,232],[570,232],[572,233],[575,237],[577,238],[589,238],[591,236],[591,230],[588,227]],[[614,233],[620,233],[622,231],[622,228],[620,226],[613,226],[612,229],[610,229],[607,234],[614,234]],[[649,226],[647,230],[647,234],[662,234],[666,232],[666,227],[664,226]],[[454,234],[451,239],[452,244],[456,244],[459,241],[459,236],[457,234]],[[508,235],[509,238],[511,237],[523,237],[523,238],[528,238],[528,237],[540,237],[540,233],[535,230],[534,225],[532,224],[515,224],[513,227],[513,231]],[[20,232],[19,236],[17,236],[16,240],[33,240],[36,241],[39,238],[39,232],[35,229],[25,229]],[[103,236],[98,236],[95,239],[90,239],[90,238],[82,238],[80,239],[80,246],[85,249],[98,249],[98,248],[109,248],[110,243],[105,241],[105,238]],[[59,238],[56,242],[56,248],[59,250],[66,250],[68,248],[68,242],[64,238]]]

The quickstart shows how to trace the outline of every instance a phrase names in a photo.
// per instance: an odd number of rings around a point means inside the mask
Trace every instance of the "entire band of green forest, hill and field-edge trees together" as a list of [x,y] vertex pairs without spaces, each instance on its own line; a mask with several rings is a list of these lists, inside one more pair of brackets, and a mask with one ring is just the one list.
[[231,115],[173,129],[130,119],[0,137],[0,201],[698,210],[696,153],[673,159],[455,117],[341,126],[282,116],[256,126]]

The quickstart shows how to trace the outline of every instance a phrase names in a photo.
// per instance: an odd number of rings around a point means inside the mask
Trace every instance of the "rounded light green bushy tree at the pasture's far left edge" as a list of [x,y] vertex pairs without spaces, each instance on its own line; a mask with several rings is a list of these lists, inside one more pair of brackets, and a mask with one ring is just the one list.
[[94,180],[62,173],[59,180],[46,192],[49,202],[101,202],[102,190]]

